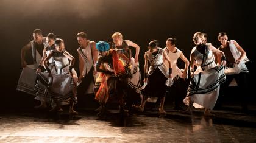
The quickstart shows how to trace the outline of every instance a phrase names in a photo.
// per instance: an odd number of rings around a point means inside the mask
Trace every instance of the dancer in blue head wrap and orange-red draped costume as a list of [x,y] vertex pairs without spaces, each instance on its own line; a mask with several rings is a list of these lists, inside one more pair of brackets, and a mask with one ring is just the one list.
[[110,96],[118,97],[119,110],[121,114],[127,115],[127,110],[124,110],[126,103],[126,90],[128,86],[128,78],[131,77],[129,70],[129,62],[123,63],[119,55],[128,53],[131,58],[130,49],[112,49],[107,42],[99,41],[96,44],[100,57],[96,63],[96,70],[99,72],[99,77],[94,85],[95,99],[101,105],[98,110],[100,118],[105,115],[105,105]]

